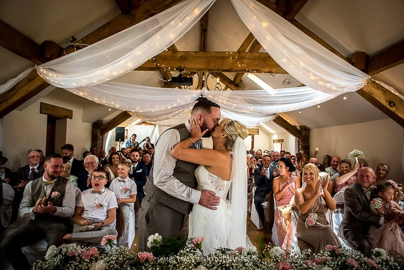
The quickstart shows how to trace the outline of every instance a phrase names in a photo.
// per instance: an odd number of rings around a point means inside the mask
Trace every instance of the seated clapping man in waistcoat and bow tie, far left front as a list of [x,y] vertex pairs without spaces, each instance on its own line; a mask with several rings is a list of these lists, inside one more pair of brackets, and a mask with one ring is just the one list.
[[60,176],[62,167],[60,155],[45,157],[43,176],[25,187],[19,214],[33,219],[6,237],[1,245],[4,257],[14,269],[31,268],[21,248],[42,239],[46,239],[48,247],[52,246],[62,233],[70,229],[76,192],[73,183]]

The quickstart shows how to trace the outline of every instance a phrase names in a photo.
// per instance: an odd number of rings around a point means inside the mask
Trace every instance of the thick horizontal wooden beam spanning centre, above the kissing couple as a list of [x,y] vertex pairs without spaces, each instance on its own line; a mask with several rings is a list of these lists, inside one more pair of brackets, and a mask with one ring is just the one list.
[[[237,57],[245,66],[239,66],[231,57]],[[155,59],[165,67],[186,69],[188,72],[245,72],[248,68],[260,73],[286,73],[267,53],[164,51]],[[148,60],[135,70],[155,71],[157,67],[153,60]]]

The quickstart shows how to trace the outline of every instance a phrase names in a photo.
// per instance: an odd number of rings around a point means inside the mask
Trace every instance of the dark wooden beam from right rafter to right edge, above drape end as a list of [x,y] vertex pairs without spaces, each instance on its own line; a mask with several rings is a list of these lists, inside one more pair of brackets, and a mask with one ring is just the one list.
[[370,56],[365,72],[372,76],[402,63],[404,63],[404,40]]

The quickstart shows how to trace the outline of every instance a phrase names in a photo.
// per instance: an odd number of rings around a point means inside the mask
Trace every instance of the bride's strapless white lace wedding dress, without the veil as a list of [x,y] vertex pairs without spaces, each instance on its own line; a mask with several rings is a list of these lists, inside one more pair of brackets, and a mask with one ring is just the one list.
[[192,209],[192,237],[203,236],[204,255],[208,255],[220,247],[229,247],[227,240],[230,232],[230,214],[226,205],[226,196],[231,181],[225,181],[210,173],[204,165],[195,170],[198,182],[197,190],[211,190],[219,196],[220,203],[216,210],[195,204]]

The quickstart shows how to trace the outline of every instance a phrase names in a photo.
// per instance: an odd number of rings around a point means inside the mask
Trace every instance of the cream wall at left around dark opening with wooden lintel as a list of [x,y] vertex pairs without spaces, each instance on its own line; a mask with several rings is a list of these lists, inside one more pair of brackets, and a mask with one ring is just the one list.
[[39,113],[40,102],[73,110],[73,119],[67,119],[66,143],[73,144],[76,158],[81,159],[82,153],[90,148],[91,123],[82,122],[82,110],[83,106],[91,106],[91,102],[56,88],[22,111],[14,110],[3,118],[0,150],[9,159],[5,166],[13,171],[28,163],[28,149],[45,150],[47,116]]

